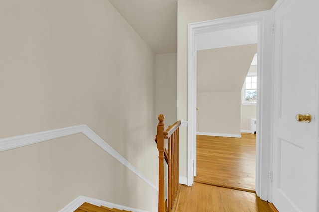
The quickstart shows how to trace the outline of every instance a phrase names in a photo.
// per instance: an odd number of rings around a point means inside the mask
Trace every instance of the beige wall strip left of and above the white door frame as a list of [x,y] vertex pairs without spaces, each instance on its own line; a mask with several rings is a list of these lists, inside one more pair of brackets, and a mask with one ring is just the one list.
[[[276,0],[178,0],[177,118],[179,120],[187,120],[188,24],[216,18],[268,10],[271,9],[275,2]],[[186,133],[181,134],[180,140],[180,174],[186,176]]]

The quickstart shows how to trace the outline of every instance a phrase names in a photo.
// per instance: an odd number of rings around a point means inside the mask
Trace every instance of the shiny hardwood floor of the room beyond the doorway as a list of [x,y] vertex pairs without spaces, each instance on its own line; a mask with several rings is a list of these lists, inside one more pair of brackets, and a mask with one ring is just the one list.
[[255,191],[256,135],[242,138],[197,135],[197,177],[194,181]]

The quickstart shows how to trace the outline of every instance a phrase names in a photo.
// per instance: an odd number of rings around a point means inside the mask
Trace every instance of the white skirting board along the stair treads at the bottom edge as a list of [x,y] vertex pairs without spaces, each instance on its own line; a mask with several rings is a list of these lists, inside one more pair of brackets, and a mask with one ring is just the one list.
[[114,204],[114,203],[110,203],[110,202],[106,202],[103,200],[90,198],[90,197],[86,197],[86,196],[77,197],[71,203],[69,203],[63,209],[61,209],[59,212],[74,212],[77,208],[79,208],[85,202],[91,203],[91,204],[96,205],[96,206],[102,205],[102,206],[105,206],[108,208],[117,208],[120,210],[127,210],[127,211],[132,211],[132,212],[147,212],[147,211],[134,209],[134,208],[130,208],[130,207],[126,207],[126,206],[122,206],[122,205],[118,205],[118,204]]

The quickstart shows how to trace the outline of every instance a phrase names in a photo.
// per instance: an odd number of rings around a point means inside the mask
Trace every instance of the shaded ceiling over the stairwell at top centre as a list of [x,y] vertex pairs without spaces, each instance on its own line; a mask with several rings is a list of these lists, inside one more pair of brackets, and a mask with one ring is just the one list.
[[109,0],[156,54],[177,52],[177,0]]

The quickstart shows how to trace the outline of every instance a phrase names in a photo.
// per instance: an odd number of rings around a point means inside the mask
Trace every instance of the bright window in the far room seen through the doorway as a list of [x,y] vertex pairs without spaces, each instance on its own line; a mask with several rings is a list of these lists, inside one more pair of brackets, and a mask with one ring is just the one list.
[[254,105],[257,102],[257,73],[248,74],[242,89],[242,104]]

